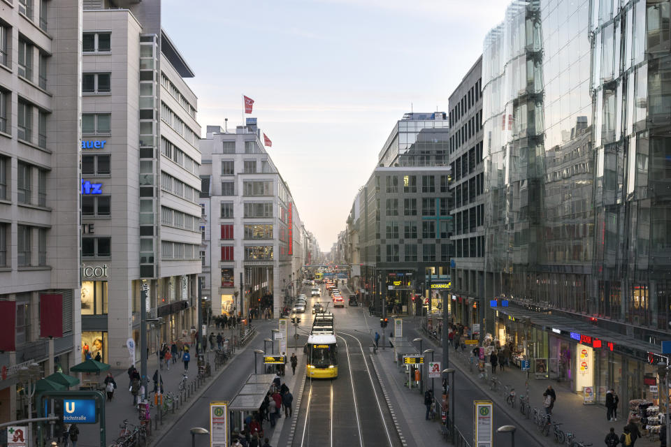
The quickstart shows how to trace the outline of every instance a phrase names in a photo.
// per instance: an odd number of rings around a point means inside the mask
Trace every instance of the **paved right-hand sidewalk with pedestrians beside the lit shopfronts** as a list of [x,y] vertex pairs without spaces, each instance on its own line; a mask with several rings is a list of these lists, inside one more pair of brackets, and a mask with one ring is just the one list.
[[[414,327],[414,332],[416,332],[419,337],[424,338],[425,346],[428,344],[435,349],[435,356],[437,358],[442,357],[442,348],[440,347],[439,342],[436,342],[433,338],[427,337],[427,334],[420,328]],[[484,393],[489,395],[491,400],[496,401],[502,406],[503,411],[505,411],[510,418],[516,420],[519,425],[526,427],[528,431],[537,435],[535,437],[541,445],[556,445],[552,434],[548,437],[544,437],[540,434],[540,431],[533,423],[533,411],[530,419],[526,419],[519,411],[519,397],[521,395],[526,395],[526,372],[522,372],[514,365],[506,367],[504,372],[497,371],[495,375],[502,384],[502,389],[497,393],[489,389],[489,380],[479,377],[477,367],[474,367],[473,372],[470,372],[470,352],[464,350],[462,354],[461,349],[455,351],[454,348],[451,347],[449,351],[449,360],[450,367],[459,369],[464,376],[467,376],[471,381],[477,383],[479,388],[484,390]],[[599,404],[584,405],[582,396],[572,393],[568,389],[568,383],[557,382],[554,380],[537,380],[533,379],[532,376],[528,381],[532,408],[535,407],[542,411],[543,393],[549,385],[554,388],[557,395],[557,400],[552,411],[552,420],[562,423],[561,430],[563,432],[571,432],[575,434],[576,441],[591,443],[594,446],[601,446],[603,445],[603,440],[609,432],[610,427],[614,427],[615,432],[618,435],[622,433],[622,428],[627,424],[629,410],[628,402],[620,402],[617,411],[619,416],[617,422],[609,422],[606,420],[606,409],[604,406]],[[517,402],[515,403],[514,409],[504,402],[503,394],[505,393],[505,386],[510,386],[515,389]],[[638,447],[653,447],[658,446],[659,441],[658,438],[650,440],[644,437],[637,440],[636,445]]]

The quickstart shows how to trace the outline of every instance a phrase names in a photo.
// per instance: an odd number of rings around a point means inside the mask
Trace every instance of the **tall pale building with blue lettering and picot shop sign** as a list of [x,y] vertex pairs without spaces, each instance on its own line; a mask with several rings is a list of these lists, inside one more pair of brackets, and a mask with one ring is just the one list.
[[194,73],[160,19],[159,0],[87,1],[83,13],[80,357],[101,346],[113,367],[140,342],[143,294],[147,318],[161,318],[150,349],[196,324],[201,129]]

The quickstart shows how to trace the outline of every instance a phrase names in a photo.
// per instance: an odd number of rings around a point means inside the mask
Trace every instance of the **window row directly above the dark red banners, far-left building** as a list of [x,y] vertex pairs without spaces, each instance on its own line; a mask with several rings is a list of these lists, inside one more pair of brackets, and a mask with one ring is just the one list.
[[[47,265],[48,228],[17,225],[17,267],[36,267]],[[11,225],[0,222],[0,268],[11,267]]]

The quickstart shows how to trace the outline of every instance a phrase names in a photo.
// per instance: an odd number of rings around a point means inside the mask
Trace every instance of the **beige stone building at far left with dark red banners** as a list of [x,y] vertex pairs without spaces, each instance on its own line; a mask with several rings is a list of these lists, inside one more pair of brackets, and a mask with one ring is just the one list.
[[[21,367],[36,363],[33,379],[68,372],[80,349],[81,2],[9,3],[0,8],[1,422],[30,417]],[[60,313],[43,307],[53,300]]]

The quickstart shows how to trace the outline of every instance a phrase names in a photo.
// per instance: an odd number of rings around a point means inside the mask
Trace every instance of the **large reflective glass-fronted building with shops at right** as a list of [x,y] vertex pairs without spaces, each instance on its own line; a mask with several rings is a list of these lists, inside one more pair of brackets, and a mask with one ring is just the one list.
[[670,336],[668,20],[515,1],[484,42],[486,332],[598,402],[653,398]]

